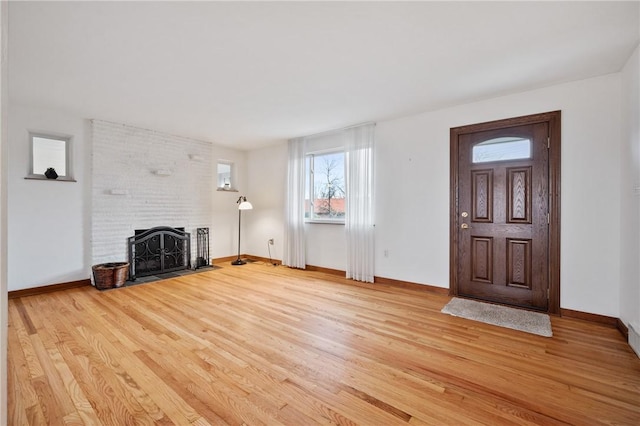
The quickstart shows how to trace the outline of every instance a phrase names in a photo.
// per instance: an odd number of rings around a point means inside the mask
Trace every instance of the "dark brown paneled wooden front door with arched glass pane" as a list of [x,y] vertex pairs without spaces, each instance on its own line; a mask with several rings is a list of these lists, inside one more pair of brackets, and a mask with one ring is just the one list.
[[553,127],[538,115],[452,129],[455,295],[559,310],[550,306]]

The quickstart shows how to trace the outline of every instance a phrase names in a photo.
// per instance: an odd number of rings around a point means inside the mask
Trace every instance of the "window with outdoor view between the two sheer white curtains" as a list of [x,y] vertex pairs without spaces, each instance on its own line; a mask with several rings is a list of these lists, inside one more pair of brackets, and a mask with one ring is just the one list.
[[308,222],[344,223],[345,155],[343,151],[306,156],[304,217]]

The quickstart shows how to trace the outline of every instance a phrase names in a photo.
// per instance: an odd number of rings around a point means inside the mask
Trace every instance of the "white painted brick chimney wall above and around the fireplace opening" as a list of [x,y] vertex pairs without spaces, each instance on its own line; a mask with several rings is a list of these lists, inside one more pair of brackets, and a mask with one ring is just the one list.
[[92,264],[127,260],[136,229],[210,227],[215,190],[212,145],[92,120]]

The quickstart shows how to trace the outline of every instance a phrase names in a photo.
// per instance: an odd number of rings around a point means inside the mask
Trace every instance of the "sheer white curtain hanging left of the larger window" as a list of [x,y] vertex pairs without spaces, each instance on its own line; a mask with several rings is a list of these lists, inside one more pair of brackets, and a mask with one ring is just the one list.
[[305,140],[289,141],[287,202],[282,263],[292,268],[306,267],[304,238]]

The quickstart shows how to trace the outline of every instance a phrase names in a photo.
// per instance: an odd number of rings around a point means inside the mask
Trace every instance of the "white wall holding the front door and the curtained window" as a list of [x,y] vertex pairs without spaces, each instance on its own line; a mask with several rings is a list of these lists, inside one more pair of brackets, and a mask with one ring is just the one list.
[[[376,126],[376,271],[397,280],[449,286],[449,129],[562,111],[561,307],[617,317],[620,299],[621,77],[611,74],[428,112]],[[286,176],[254,174],[252,193]],[[283,223],[272,218],[274,224]],[[344,269],[344,230],[307,228],[307,263]],[[281,231],[280,231],[281,232]],[[387,256],[385,256],[385,252]]]

